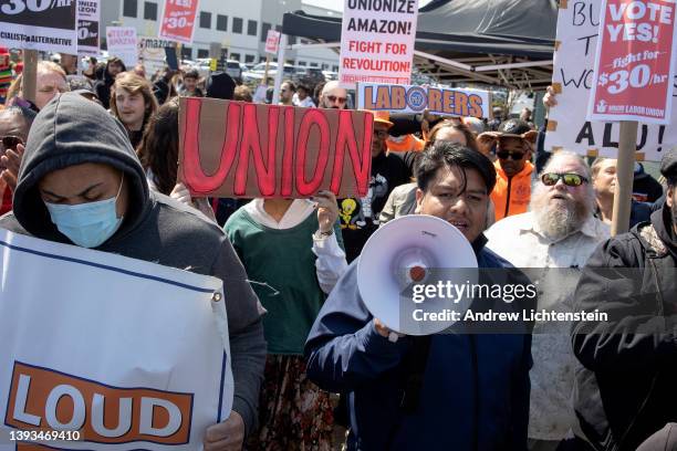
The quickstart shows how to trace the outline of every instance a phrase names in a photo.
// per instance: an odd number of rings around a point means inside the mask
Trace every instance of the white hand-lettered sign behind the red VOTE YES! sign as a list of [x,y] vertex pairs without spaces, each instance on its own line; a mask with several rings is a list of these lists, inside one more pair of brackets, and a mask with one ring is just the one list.
[[[558,105],[550,108],[546,150],[569,149],[581,155],[616,157],[619,124],[585,118],[594,80],[601,8],[602,0],[560,3],[552,78]],[[677,84],[677,80],[673,83]],[[673,93],[671,109],[676,102]],[[677,146],[674,120],[670,125],[639,125],[636,158],[659,161],[674,146]]]

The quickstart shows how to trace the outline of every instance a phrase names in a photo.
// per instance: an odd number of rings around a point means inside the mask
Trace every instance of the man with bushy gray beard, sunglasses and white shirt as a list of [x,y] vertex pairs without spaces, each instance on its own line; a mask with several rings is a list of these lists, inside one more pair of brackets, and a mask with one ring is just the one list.
[[[552,156],[534,183],[530,211],[508,217],[487,232],[489,249],[527,273],[539,287],[538,310],[573,312],[572,293],[610,227],[594,217],[591,170],[577,155]],[[538,270],[537,270],[538,269]],[[566,322],[537,322],[533,331],[529,450],[555,450],[573,436],[574,369]]]

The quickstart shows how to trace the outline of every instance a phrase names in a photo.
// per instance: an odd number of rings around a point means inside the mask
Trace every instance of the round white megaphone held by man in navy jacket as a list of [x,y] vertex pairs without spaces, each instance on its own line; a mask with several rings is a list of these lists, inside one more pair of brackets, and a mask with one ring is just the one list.
[[449,285],[477,279],[477,258],[466,237],[427,214],[384,224],[367,240],[357,262],[364,304],[389,329],[406,335],[435,334],[462,319],[472,300],[457,296]]

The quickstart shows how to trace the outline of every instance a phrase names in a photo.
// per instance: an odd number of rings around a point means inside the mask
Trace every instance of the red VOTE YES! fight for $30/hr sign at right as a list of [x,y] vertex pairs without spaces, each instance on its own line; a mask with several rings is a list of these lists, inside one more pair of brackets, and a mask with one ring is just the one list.
[[604,0],[587,117],[669,124],[675,0]]

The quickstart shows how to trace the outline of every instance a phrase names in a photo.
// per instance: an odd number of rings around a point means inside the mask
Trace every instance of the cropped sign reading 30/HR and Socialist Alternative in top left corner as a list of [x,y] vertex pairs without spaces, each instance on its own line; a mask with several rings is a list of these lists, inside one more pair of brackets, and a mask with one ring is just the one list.
[[0,4],[0,43],[8,48],[77,53],[75,0],[12,0]]

